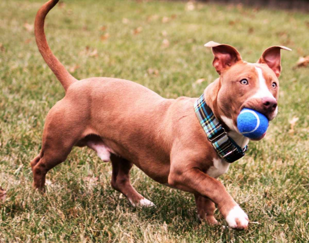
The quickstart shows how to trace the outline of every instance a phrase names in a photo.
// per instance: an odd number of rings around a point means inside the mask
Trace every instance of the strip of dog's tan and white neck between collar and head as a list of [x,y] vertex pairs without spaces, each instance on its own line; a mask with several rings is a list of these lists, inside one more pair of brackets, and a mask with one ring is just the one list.
[[241,135],[238,128],[234,125],[233,120],[224,116],[224,113],[218,106],[217,98],[221,88],[220,78],[217,78],[214,82],[206,87],[204,90],[204,98],[207,105],[214,112],[215,117],[220,121],[222,127],[226,129],[229,136],[241,147],[244,148],[248,143],[249,139]]

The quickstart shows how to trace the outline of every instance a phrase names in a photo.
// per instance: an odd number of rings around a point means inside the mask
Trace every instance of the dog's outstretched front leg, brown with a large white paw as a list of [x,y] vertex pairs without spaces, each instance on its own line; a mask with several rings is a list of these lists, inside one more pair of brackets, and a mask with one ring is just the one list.
[[218,206],[218,210],[231,228],[246,229],[249,223],[248,216],[226,191],[223,184],[194,165],[194,162],[172,160],[168,184],[209,198]]

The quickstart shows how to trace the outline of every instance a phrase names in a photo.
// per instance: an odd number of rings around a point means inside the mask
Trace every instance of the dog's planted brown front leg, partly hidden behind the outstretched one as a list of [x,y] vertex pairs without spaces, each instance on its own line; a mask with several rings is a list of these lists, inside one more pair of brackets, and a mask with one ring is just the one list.
[[194,194],[195,203],[197,206],[197,217],[200,220],[206,220],[210,225],[218,224],[214,218],[215,204],[207,197]]

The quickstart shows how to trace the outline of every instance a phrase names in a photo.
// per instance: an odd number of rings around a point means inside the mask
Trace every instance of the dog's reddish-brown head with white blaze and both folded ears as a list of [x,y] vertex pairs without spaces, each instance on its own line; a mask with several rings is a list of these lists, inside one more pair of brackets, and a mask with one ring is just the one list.
[[226,125],[238,131],[236,120],[243,108],[259,111],[272,120],[278,112],[280,50],[291,49],[272,46],[263,52],[257,63],[248,63],[230,45],[210,41],[205,46],[212,48],[213,66],[220,75],[216,102]]

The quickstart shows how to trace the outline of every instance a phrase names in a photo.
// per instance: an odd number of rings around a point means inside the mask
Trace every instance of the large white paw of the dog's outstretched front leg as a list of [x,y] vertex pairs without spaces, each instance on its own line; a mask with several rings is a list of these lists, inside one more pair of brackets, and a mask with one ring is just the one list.
[[233,229],[248,228],[249,218],[238,205],[231,209],[225,220]]

